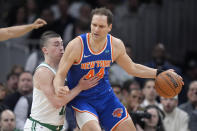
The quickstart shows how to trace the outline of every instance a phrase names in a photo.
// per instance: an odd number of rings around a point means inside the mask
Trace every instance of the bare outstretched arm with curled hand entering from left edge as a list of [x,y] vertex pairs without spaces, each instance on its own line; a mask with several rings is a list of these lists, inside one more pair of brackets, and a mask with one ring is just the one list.
[[0,29],[0,41],[8,40],[10,38],[20,37],[33,29],[38,29],[46,25],[46,21],[38,18],[34,23],[28,25],[13,26]]

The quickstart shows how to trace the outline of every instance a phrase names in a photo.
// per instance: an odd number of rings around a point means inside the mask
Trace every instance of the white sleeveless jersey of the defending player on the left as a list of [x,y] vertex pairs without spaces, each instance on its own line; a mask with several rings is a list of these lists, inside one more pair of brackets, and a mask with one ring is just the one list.
[[[46,63],[41,63],[36,69],[40,67],[47,67],[54,74],[56,74],[56,71]],[[65,106],[60,109],[56,109],[53,107],[51,102],[49,102],[45,94],[41,90],[34,87],[30,114],[33,119],[51,125],[63,125],[65,120],[64,114]]]

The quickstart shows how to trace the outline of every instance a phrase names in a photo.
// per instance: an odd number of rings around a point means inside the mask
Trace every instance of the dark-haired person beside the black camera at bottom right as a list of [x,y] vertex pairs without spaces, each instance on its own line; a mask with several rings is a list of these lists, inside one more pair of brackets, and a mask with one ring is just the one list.
[[[136,125],[137,131],[168,131],[164,129],[163,119],[164,113],[155,105],[149,105],[145,108],[145,112],[151,114],[151,118],[144,119],[144,125]],[[174,130],[175,131],[175,130]]]

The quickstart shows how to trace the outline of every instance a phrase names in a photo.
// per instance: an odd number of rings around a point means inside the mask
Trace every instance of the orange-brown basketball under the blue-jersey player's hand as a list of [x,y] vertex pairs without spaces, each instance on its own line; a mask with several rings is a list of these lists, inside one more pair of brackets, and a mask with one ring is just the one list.
[[178,95],[182,89],[182,79],[174,72],[164,71],[155,79],[157,93],[165,98]]

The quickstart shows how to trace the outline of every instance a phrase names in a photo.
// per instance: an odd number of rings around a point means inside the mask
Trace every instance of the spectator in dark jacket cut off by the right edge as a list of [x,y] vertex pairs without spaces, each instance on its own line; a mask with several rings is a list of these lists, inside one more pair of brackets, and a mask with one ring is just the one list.
[[190,131],[196,131],[197,129],[197,80],[192,81],[189,84],[189,90],[187,92],[188,102],[181,104],[179,107],[189,114],[189,129]]

